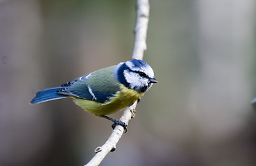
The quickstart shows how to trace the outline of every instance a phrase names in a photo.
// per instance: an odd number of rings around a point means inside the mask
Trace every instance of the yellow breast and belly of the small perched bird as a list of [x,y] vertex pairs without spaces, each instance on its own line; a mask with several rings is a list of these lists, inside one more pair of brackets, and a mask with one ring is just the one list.
[[106,103],[83,100],[79,98],[74,98],[74,102],[78,106],[82,107],[85,111],[94,113],[96,115],[106,115],[130,106],[138,98],[144,95],[144,93],[138,93],[134,89],[128,89],[122,84],[120,89],[121,91],[118,91],[113,97],[110,98],[109,102]]

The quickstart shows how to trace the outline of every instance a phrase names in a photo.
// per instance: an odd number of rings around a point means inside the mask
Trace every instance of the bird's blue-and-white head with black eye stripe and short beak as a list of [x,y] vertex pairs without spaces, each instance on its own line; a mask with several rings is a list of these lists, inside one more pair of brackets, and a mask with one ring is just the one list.
[[158,81],[154,78],[154,71],[146,62],[131,59],[117,66],[117,80],[129,89],[144,93]]

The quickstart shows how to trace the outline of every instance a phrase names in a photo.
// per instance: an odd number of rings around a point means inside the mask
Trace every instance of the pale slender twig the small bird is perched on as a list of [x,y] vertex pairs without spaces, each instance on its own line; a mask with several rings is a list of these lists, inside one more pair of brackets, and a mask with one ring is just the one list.
[[[137,0],[137,23],[135,27],[135,44],[133,48],[133,59],[143,59],[144,50],[146,50],[146,32],[148,29],[149,3],[148,0]],[[131,118],[135,116],[137,102],[124,109],[120,120],[128,124]],[[117,125],[108,140],[101,147],[95,149],[95,156],[85,166],[100,165],[101,161],[110,151],[116,149],[117,142],[123,135],[123,127]]]

